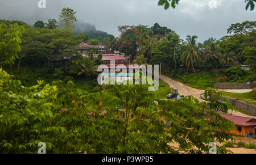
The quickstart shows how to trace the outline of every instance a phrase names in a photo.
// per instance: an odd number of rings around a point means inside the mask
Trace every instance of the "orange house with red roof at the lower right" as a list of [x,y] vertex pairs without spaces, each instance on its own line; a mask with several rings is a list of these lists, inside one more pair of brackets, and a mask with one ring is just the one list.
[[225,114],[220,115],[225,119],[233,121],[234,125],[236,125],[236,129],[230,130],[229,133],[234,133],[238,136],[246,136],[248,133],[256,134],[256,119]]

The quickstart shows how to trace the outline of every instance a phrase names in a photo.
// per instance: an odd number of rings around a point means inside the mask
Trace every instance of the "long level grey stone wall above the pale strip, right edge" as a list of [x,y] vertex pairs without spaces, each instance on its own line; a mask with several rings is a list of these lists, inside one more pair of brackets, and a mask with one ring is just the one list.
[[214,83],[216,89],[252,89],[256,87],[256,83]]

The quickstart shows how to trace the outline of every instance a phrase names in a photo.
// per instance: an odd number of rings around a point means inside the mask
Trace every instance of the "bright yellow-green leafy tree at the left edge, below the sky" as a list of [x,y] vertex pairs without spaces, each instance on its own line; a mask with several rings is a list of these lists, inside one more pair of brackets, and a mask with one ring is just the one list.
[[[0,64],[13,65],[20,52],[23,27],[18,24],[0,24]],[[11,67],[12,68],[12,67]]]

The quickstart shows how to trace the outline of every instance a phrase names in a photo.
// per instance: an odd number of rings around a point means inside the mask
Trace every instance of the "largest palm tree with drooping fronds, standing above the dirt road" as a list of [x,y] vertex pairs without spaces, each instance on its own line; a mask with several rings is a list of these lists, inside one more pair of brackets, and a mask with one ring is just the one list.
[[194,73],[196,73],[195,66],[199,66],[201,62],[196,43],[197,36],[187,36],[186,39],[188,43],[185,46],[184,52],[181,54],[181,61],[188,68],[192,67]]

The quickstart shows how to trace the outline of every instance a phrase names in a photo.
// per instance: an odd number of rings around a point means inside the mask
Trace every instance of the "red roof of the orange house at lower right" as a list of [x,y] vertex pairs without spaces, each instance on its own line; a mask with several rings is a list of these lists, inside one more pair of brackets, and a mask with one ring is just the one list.
[[254,126],[256,125],[256,119],[250,118],[250,117],[241,117],[241,116],[232,116],[232,115],[225,115],[220,114],[220,116],[224,117],[225,119],[228,119],[230,121],[233,121],[235,125],[241,125],[245,124],[244,126]]

